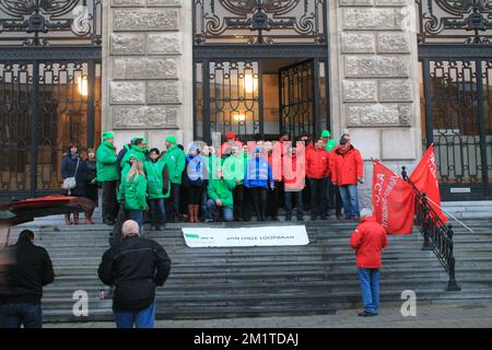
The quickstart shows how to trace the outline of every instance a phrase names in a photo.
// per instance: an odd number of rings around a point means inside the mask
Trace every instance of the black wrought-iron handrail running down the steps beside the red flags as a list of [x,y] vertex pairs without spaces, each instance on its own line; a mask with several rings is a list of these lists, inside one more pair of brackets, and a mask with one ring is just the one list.
[[460,291],[455,277],[455,256],[453,242],[453,226],[446,225],[429,202],[426,194],[422,194],[408,177],[406,166],[402,167],[401,177],[409,183],[415,192],[414,225],[422,234],[424,242],[422,250],[433,250],[441,265],[449,275],[447,291]]

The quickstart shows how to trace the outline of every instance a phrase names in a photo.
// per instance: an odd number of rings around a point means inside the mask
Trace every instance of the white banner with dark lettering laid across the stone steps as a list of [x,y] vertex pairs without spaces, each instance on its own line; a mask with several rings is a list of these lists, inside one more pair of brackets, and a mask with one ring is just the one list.
[[238,229],[183,228],[190,248],[255,247],[307,245],[309,238],[302,226],[257,226]]

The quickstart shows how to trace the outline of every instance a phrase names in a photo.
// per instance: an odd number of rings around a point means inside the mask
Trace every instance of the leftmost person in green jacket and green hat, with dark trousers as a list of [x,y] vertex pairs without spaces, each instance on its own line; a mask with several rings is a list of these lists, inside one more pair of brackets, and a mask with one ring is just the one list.
[[97,182],[103,187],[103,222],[108,225],[115,224],[118,213],[116,201],[116,187],[119,179],[118,156],[115,148],[115,133],[105,131],[103,143],[96,151]]

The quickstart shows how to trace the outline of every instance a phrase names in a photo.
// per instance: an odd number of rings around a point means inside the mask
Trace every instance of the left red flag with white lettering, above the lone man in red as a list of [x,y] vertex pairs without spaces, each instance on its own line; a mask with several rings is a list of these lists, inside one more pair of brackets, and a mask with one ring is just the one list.
[[415,211],[412,186],[379,162],[374,161],[373,165],[374,217],[388,233],[412,233]]

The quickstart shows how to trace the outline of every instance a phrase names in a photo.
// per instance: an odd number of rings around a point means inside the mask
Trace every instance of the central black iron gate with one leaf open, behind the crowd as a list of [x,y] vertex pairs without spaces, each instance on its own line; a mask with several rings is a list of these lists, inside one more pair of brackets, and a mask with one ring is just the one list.
[[[329,128],[327,60],[309,59],[263,73],[266,60],[196,61],[197,139],[215,140],[227,131],[234,131],[243,141],[256,135],[274,139],[280,130],[295,138]],[[271,79],[263,83],[266,75],[274,75],[274,83]]]

